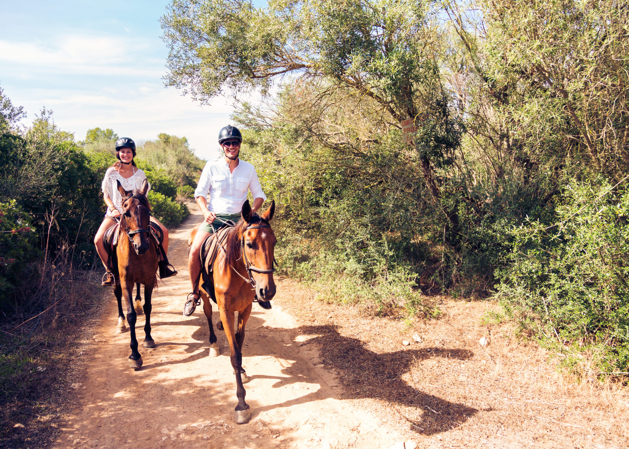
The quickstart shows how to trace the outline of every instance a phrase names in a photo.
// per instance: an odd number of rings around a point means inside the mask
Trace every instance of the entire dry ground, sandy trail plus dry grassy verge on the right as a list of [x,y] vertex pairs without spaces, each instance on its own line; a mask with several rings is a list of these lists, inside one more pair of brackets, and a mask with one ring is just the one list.
[[[111,296],[81,378],[67,385],[76,406],[53,448],[629,446],[627,392],[577,384],[507,326],[481,326],[495,307],[487,302],[444,300],[442,319],[404,324],[315,301],[291,280],[278,281],[272,311],[253,306],[243,347],[252,419],[233,423],[225,335],[217,331],[221,355],[208,357],[203,312],[181,314],[187,233],[199,220],[170,234],[179,275],[153,296],[157,347],[140,348],[141,369],[128,367],[129,333],[114,333]],[[481,336],[491,339],[484,350]]]

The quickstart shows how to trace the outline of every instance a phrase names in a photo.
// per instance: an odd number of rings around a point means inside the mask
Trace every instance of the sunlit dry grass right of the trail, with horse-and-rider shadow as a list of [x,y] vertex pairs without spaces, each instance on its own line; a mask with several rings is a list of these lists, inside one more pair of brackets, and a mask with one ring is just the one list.
[[[543,348],[509,324],[482,326],[487,301],[441,298],[441,319],[365,318],[357,308],[315,301],[291,280],[279,286],[348,399],[372,409],[400,439],[438,447],[629,445],[629,391],[560,374]],[[418,333],[421,343],[413,342]],[[483,349],[478,341],[491,339]],[[404,346],[402,340],[413,343]]]

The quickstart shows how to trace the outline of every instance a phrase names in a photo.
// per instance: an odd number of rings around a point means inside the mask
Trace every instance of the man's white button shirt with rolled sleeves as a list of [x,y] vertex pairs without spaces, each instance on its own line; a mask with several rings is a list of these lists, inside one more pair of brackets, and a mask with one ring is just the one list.
[[242,205],[247,201],[248,190],[254,199],[267,199],[253,165],[238,160],[238,167],[230,172],[230,166],[221,157],[208,160],[205,164],[194,191],[194,198],[203,196],[208,200],[208,211],[216,214],[235,214],[242,211]]

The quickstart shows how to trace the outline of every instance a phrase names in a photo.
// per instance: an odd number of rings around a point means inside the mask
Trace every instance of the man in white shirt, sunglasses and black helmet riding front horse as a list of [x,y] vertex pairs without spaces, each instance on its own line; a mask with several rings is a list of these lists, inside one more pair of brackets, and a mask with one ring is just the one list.
[[[253,165],[240,160],[242,134],[235,126],[227,125],[218,133],[218,143],[224,157],[209,160],[205,165],[199,184],[194,191],[194,199],[204,216],[204,221],[194,237],[188,255],[188,267],[192,293],[188,294],[184,305],[184,316],[194,313],[199,299],[199,275],[201,274],[201,246],[209,235],[226,226],[225,221],[236,223],[240,219],[242,206],[247,201],[247,191],[253,195],[253,212],[262,207],[267,199],[258,174]],[[209,199],[208,199],[209,194]],[[270,301],[258,300],[264,309],[270,309]]]

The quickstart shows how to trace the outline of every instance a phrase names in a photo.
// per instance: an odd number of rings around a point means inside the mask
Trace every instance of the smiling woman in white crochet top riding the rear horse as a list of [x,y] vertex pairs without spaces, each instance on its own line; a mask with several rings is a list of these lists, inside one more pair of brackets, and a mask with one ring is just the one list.
[[[105,274],[103,275],[103,287],[109,287],[115,285],[114,275],[111,272],[111,260],[109,260],[108,252],[103,242],[103,236],[105,232],[116,224],[116,218],[120,218],[122,213],[122,200],[120,192],[118,191],[118,182],[126,191],[132,191],[133,189],[140,189],[142,183],[147,176],[143,170],[140,170],[135,165],[133,158],[135,157],[135,142],[128,137],[121,137],[116,140],[116,159],[118,162],[111,165],[105,177],[103,179],[103,199],[107,204],[107,213],[101,223],[100,228],[96,232],[94,237],[94,245],[96,245],[96,252],[101,257],[101,261],[105,267]],[[166,257],[168,253],[168,230],[165,228],[159,220],[151,216],[150,220],[158,225],[162,230],[164,239],[162,241],[162,253],[164,260],[159,261],[159,275],[161,279],[174,276],[177,272],[172,265],[168,263]]]

